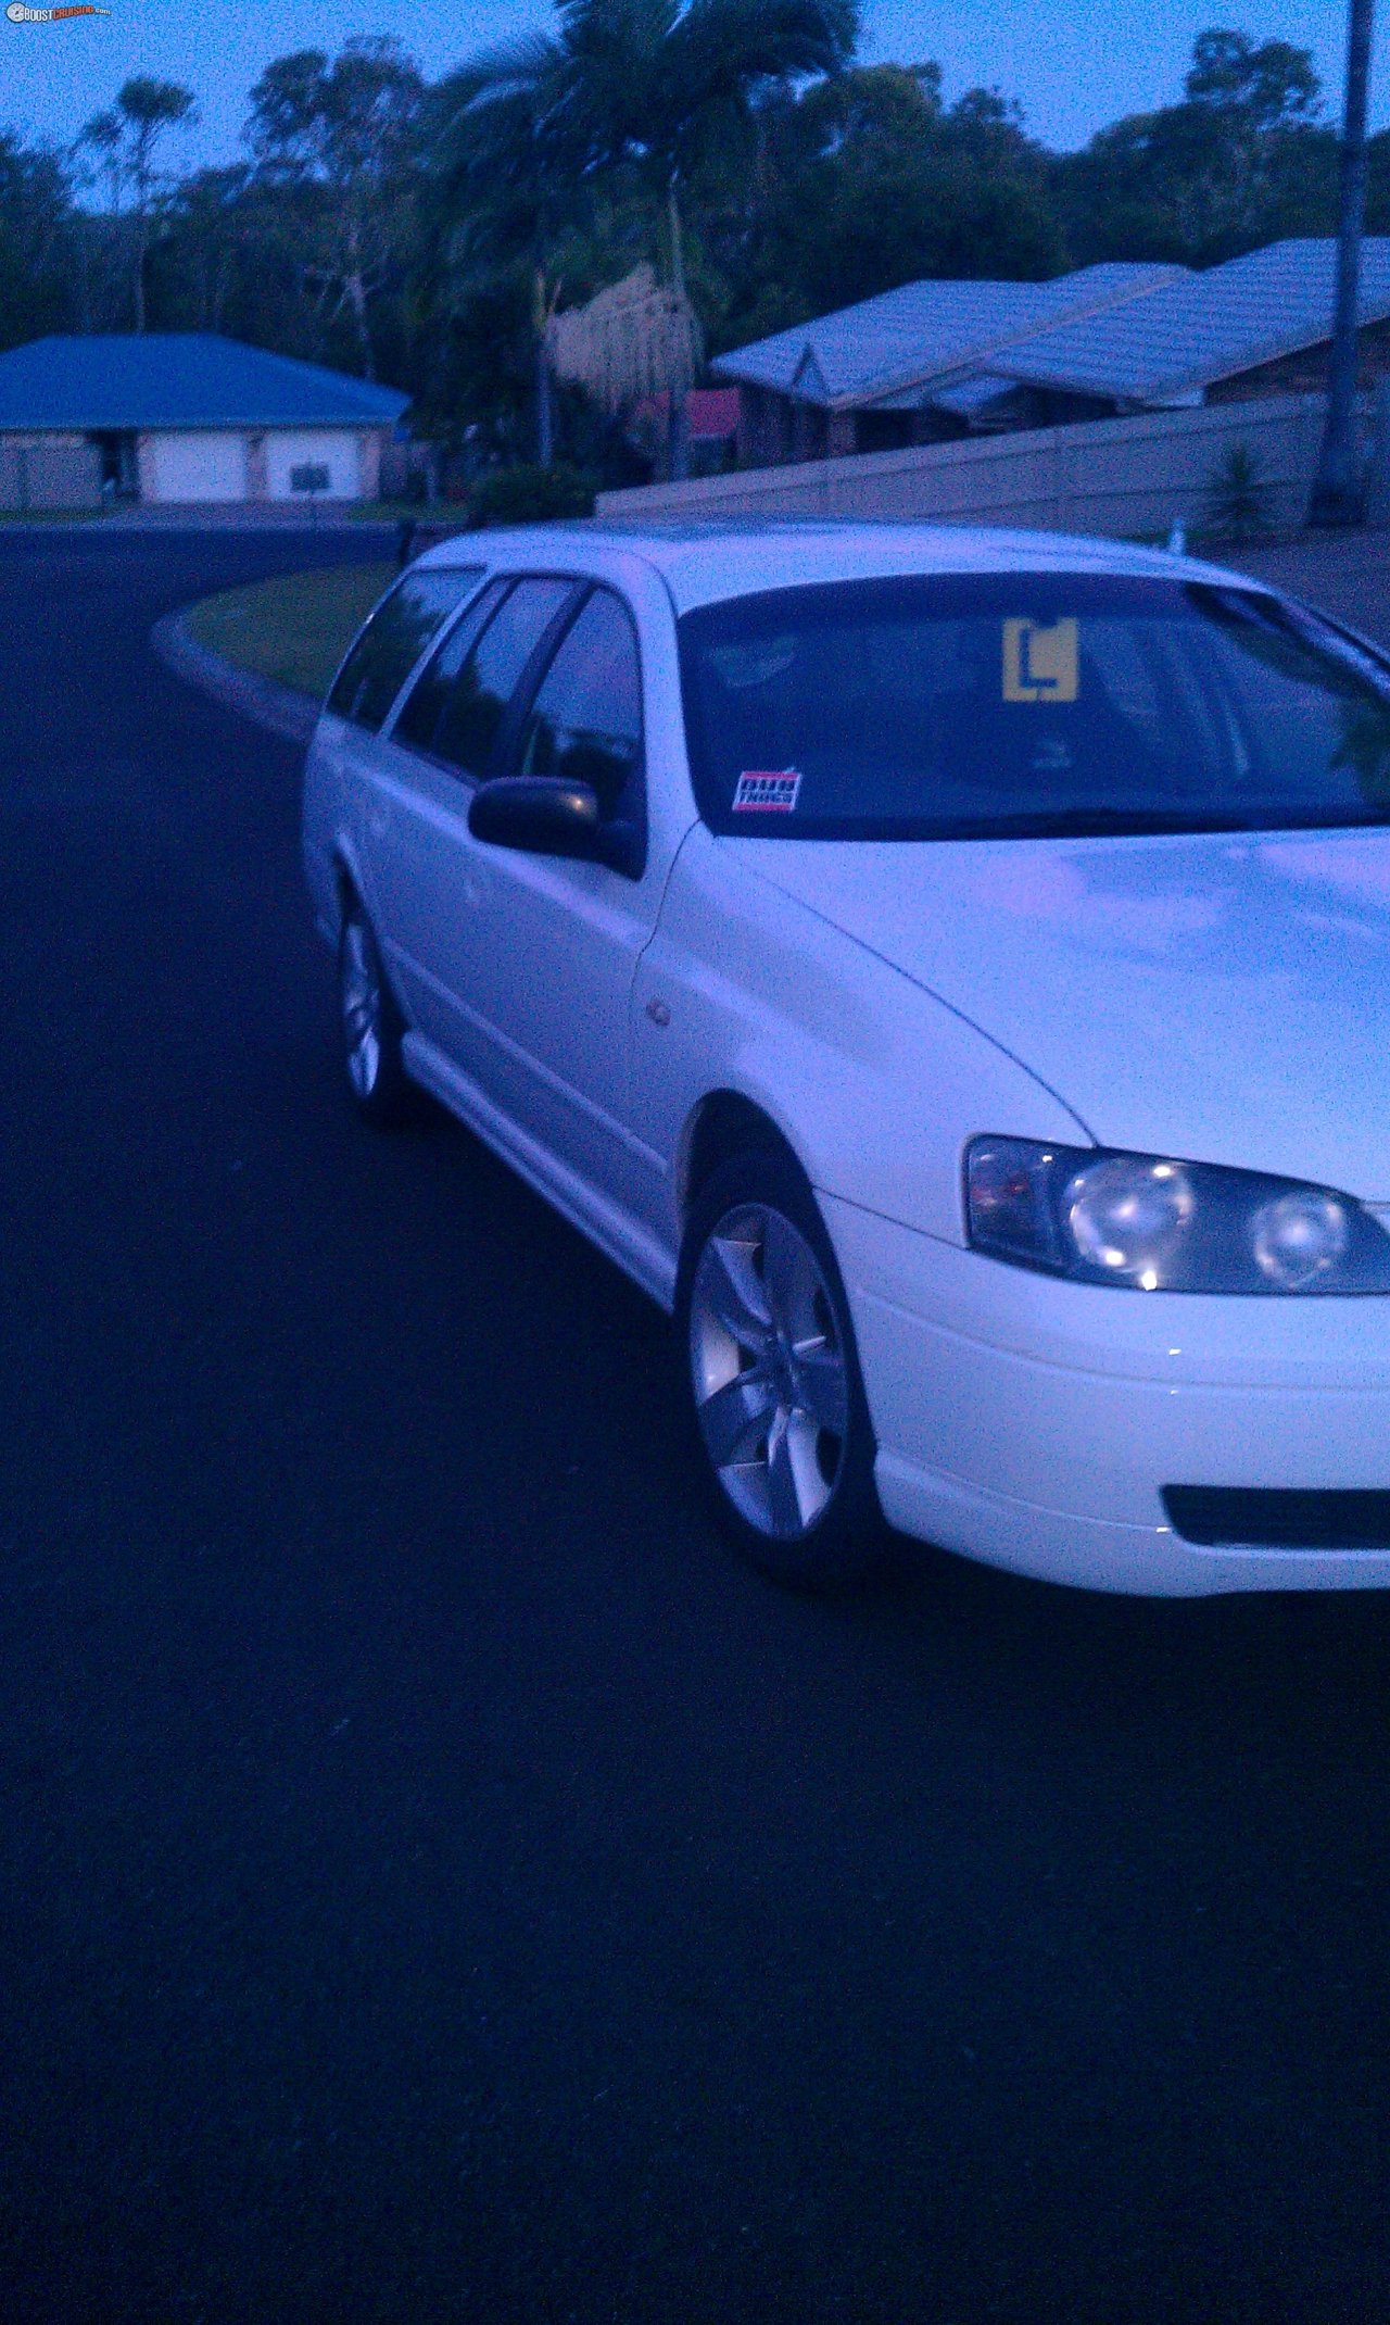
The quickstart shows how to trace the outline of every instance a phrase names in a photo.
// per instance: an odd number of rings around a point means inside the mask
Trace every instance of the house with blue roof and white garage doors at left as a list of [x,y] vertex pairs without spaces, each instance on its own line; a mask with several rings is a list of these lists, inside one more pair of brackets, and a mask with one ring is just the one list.
[[0,507],[374,500],[407,405],[218,332],[30,339],[0,356]]

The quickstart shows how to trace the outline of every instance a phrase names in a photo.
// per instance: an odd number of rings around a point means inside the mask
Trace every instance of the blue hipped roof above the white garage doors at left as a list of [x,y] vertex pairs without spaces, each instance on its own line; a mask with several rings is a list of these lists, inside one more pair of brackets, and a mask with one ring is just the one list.
[[409,395],[214,330],[88,332],[0,356],[7,428],[358,428]]

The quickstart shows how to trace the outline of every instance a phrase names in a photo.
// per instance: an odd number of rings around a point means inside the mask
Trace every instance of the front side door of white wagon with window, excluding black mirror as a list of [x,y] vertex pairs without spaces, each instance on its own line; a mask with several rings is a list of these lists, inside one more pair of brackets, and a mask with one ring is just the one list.
[[458,1004],[486,1030],[486,1083],[509,1118],[637,1209],[651,1158],[639,1162],[628,1128],[628,1004],[660,909],[660,867],[649,877],[642,651],[614,588],[588,588],[528,674],[504,777],[590,784],[614,860],[474,842],[474,904],[453,953]]

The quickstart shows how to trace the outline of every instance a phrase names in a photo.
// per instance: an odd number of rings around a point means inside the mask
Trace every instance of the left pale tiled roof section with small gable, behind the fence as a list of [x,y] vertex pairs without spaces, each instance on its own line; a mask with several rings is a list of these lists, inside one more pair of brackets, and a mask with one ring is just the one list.
[[1046,284],[920,281],[841,307],[772,339],[755,339],[711,370],[721,379],[804,395],[809,402],[867,402],[944,372],[983,363],[1069,316],[1109,309],[1181,281],[1183,267],[1109,263]]

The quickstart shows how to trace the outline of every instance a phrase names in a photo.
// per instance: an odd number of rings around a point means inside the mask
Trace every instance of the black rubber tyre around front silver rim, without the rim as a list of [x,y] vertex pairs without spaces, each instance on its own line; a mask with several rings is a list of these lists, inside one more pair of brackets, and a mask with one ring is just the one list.
[[[769,1204],[781,1211],[783,1218],[790,1218],[790,1223],[807,1237],[825,1272],[830,1297],[834,1302],[834,1323],[846,1353],[851,1421],[844,1465],[821,1518],[797,1541],[776,1541],[774,1537],[762,1535],[735,1509],[728,1493],[718,1483],[714,1462],[709,1460],[695,1409],[695,1381],[690,1374],[690,1290],[695,1283],[695,1269],[709,1232],[741,1202]],[[721,1162],[700,1188],[690,1207],[690,1221],[681,1244],[674,1342],[674,1360],[679,1367],[679,1388],[683,1395],[686,1432],[693,1460],[702,1479],[704,1500],[725,1539],[732,1541],[760,1574],[767,1574],[772,1581],[793,1590],[825,1590],[837,1583],[862,1581],[881,1562],[886,1551],[886,1525],[874,1488],[874,1428],[869,1421],[853,1321],[834,1246],[825,1232],[825,1223],[816,1209],[816,1197],[804,1172],[779,1149],[751,1149],[748,1153],[735,1156],[732,1160]]]

